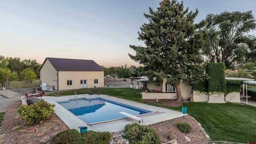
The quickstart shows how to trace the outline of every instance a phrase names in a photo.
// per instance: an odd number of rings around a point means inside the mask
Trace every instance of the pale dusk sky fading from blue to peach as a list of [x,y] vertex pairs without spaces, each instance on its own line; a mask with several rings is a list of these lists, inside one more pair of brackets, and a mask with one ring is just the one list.
[[[0,0],[0,55],[21,60],[46,57],[94,60],[101,66],[139,66],[128,56],[162,0]],[[256,0],[184,0],[185,8],[207,14],[252,10]],[[250,34],[256,34],[254,30]]]

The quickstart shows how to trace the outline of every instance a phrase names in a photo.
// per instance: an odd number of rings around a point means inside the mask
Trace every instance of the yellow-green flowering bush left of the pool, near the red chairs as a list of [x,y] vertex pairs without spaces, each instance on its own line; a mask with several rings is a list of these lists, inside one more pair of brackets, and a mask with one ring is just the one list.
[[20,106],[17,112],[22,120],[25,120],[28,124],[35,124],[46,120],[50,114],[54,114],[54,106],[54,104],[39,100],[30,106]]

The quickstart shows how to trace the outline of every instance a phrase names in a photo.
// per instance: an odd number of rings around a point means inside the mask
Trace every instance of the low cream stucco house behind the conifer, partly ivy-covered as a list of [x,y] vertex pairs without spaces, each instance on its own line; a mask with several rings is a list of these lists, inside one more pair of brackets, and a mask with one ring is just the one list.
[[[225,78],[226,80],[243,80],[252,82],[254,79],[250,78]],[[160,86],[154,85],[154,80],[152,82],[148,81],[148,78],[136,80],[141,82],[143,85],[142,99],[175,99],[177,94],[175,86],[167,84],[166,79],[163,79],[160,83]],[[243,84],[243,93],[244,93],[244,84]],[[197,91],[192,91],[192,86],[189,84],[184,84],[180,82],[180,92],[182,98],[189,99],[193,98],[194,102],[210,102],[210,103],[225,103],[225,102],[240,102],[240,92],[231,92],[224,97],[223,96],[213,96],[208,93],[201,93]]]

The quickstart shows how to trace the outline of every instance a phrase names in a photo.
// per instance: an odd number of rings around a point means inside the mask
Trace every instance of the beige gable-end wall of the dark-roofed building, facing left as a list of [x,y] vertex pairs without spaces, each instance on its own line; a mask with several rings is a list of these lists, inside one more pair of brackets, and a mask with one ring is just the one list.
[[54,90],[56,90],[55,80],[58,80],[58,71],[48,60],[46,60],[40,70],[40,80],[42,83],[46,83],[47,86],[54,86]]

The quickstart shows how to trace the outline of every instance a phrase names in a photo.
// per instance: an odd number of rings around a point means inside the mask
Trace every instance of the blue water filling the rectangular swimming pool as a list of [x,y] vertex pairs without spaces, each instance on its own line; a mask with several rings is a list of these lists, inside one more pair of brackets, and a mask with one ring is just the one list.
[[103,98],[72,98],[58,101],[58,104],[72,112],[87,124],[126,118],[119,112],[127,112],[132,115],[140,115],[152,112],[142,108],[129,106]]

